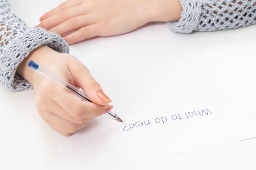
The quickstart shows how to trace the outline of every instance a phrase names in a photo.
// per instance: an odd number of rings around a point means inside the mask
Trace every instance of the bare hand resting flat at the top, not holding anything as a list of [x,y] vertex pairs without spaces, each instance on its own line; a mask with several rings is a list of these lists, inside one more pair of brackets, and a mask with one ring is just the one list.
[[152,21],[179,20],[181,11],[179,0],[67,0],[45,13],[36,27],[74,44],[127,33]]

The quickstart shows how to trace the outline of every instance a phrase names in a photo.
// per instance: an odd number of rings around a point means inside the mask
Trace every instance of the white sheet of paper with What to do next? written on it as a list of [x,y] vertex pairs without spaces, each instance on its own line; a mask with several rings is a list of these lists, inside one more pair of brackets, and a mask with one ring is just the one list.
[[57,134],[66,170],[105,170],[256,136],[252,56],[206,56],[164,24],[70,47],[125,124],[98,117]]

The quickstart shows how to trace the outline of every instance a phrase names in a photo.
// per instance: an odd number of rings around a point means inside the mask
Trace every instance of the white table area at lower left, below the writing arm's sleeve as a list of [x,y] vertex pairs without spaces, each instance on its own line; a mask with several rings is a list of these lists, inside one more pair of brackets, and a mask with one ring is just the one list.
[[0,169],[61,169],[56,133],[36,112],[33,91],[0,86]]

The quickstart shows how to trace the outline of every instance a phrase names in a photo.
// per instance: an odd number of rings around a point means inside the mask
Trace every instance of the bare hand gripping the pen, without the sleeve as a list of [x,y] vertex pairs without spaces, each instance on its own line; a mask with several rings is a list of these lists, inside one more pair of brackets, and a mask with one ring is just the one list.
[[[70,84],[82,88],[94,103],[84,102],[64,88],[50,82],[27,64],[34,60]],[[84,128],[94,117],[109,112],[113,106],[88,69],[70,54],[58,53],[47,46],[34,50],[18,66],[17,73],[34,88],[40,116],[64,136]]]

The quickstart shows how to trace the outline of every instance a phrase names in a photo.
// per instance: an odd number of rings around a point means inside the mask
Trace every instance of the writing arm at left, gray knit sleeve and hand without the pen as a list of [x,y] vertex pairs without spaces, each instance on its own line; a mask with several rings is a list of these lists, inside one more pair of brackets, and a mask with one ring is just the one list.
[[[110,99],[86,66],[68,54],[67,43],[56,33],[28,28],[0,1],[0,82],[12,91],[33,87],[40,116],[57,132],[69,136],[94,117],[112,109]],[[70,84],[82,88],[92,102],[47,81],[28,66],[35,60]]]

